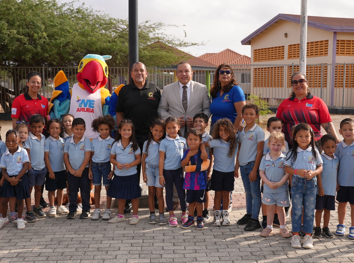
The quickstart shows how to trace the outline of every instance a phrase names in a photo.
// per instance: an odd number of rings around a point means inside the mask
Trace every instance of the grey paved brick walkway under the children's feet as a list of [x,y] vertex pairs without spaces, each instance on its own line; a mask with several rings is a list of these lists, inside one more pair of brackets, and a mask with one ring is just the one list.
[[[93,210],[94,206],[91,208]],[[346,224],[350,225],[348,208]],[[181,211],[176,212],[177,216],[180,214]],[[128,220],[109,224],[78,217],[72,221],[65,216],[46,217],[36,223],[28,223],[24,230],[17,230],[11,223],[2,228],[0,262],[354,261],[354,243],[347,236],[314,239],[313,249],[294,249],[290,246],[290,238],[285,239],[278,234],[278,228],[275,228],[276,234],[268,238],[259,235],[261,230],[244,231],[236,224],[244,214],[245,198],[239,178],[235,182],[233,211],[230,213],[232,225],[229,227],[213,227],[211,221],[202,231],[150,225],[147,208],[139,210],[140,222],[137,225],[129,225]],[[290,219],[287,219],[287,224],[291,228]],[[332,231],[336,225],[337,213],[333,212],[330,221]]]

